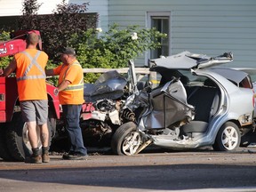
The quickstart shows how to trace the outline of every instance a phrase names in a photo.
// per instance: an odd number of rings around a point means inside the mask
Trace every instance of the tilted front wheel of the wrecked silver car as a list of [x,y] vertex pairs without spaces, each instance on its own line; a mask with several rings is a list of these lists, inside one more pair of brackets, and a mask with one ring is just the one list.
[[133,122],[122,124],[114,133],[111,148],[118,156],[132,156],[140,147],[140,132]]

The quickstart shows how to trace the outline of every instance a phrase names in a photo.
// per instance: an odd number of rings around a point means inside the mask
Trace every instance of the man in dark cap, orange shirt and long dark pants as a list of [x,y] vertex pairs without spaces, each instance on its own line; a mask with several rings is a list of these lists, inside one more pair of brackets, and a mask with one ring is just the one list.
[[62,64],[53,69],[46,69],[47,76],[59,75],[58,92],[63,110],[66,130],[71,142],[68,154],[62,156],[67,160],[86,159],[82,130],[79,125],[82,104],[84,103],[84,73],[73,48],[64,48],[61,52]]

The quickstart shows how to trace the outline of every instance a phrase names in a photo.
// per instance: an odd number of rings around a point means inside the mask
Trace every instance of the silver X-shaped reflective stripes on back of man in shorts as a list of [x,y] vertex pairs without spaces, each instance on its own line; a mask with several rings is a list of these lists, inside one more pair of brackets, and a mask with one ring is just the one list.
[[[28,68],[26,68],[26,71],[24,72],[23,76],[20,76],[19,78],[17,78],[17,81],[19,82],[21,80],[27,80],[27,79],[42,79],[42,78],[46,78],[44,69],[36,61],[37,58],[40,56],[41,52],[37,51],[34,58],[32,58],[31,55],[28,54],[28,52],[24,51],[22,53],[24,53],[28,57],[28,59],[30,60],[30,63],[28,65]],[[42,75],[40,75],[40,76],[28,76],[28,72],[30,71],[30,69],[33,66],[36,66],[36,68],[38,68],[41,71]]]

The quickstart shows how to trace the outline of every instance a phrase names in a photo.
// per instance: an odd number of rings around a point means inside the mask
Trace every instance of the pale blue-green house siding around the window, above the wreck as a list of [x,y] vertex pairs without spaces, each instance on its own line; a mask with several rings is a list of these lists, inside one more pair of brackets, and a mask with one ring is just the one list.
[[109,0],[108,6],[109,24],[124,27],[147,27],[147,12],[171,12],[172,54],[233,52],[232,66],[256,68],[255,0]]

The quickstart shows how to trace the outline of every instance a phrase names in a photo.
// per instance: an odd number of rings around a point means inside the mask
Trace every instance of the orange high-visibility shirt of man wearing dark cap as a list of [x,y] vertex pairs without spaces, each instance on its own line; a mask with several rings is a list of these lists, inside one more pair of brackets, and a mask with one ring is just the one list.
[[[69,86],[75,86],[81,84],[83,81],[84,84],[84,73],[83,68],[77,60],[75,60],[70,65],[60,65],[57,68],[53,69],[54,75],[60,75],[59,84],[64,80],[70,82]],[[74,90],[63,90],[59,92],[59,100],[61,105],[80,105],[84,103],[84,85],[83,88],[74,89]]]

